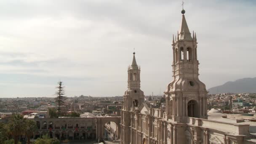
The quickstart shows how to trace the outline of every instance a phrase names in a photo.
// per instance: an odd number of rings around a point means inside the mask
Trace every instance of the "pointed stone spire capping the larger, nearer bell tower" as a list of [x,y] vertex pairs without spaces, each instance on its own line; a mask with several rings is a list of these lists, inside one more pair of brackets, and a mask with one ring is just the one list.
[[179,40],[193,40],[184,13],[182,15],[181,26],[179,29]]

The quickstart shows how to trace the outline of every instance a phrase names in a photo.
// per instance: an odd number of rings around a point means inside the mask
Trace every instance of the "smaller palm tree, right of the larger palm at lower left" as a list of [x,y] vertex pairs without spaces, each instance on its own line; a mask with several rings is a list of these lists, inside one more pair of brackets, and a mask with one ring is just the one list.
[[30,137],[33,136],[33,133],[37,131],[37,124],[34,120],[25,120],[25,135],[27,136],[27,144],[30,144]]

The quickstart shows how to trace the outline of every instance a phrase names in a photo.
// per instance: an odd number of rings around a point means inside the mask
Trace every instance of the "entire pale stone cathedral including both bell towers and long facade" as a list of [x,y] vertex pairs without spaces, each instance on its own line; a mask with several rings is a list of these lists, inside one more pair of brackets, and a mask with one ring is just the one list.
[[140,68],[133,56],[121,111],[120,144],[253,144],[249,125],[207,119],[208,92],[198,79],[197,37],[194,32],[191,36],[182,13],[180,30],[173,36],[173,80],[164,92],[165,109],[144,103]]

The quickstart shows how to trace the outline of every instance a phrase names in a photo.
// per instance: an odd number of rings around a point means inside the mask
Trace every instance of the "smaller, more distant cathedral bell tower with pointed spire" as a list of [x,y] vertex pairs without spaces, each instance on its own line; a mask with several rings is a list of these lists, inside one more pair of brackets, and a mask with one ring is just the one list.
[[124,95],[124,110],[131,110],[131,107],[139,107],[144,102],[144,93],[140,90],[140,70],[133,52],[133,62],[128,66],[128,90]]

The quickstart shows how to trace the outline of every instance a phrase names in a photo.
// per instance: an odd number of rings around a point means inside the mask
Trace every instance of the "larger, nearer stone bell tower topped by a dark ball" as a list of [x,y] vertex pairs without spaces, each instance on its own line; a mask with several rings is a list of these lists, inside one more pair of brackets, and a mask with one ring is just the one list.
[[207,91],[198,79],[197,37],[189,32],[185,10],[177,37],[173,36],[173,81],[165,93],[167,120],[187,122],[188,117],[207,118]]

